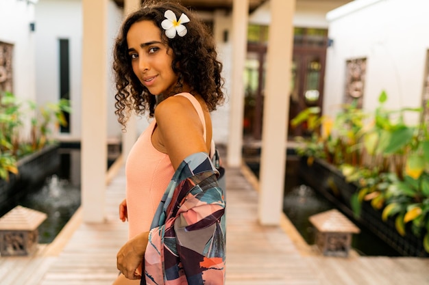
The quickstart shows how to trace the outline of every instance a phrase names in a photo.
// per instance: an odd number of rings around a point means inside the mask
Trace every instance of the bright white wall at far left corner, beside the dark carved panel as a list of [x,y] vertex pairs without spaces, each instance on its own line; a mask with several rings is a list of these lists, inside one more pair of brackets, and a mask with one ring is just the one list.
[[16,97],[34,100],[34,5],[27,1],[0,0],[0,41],[13,44],[13,92]]

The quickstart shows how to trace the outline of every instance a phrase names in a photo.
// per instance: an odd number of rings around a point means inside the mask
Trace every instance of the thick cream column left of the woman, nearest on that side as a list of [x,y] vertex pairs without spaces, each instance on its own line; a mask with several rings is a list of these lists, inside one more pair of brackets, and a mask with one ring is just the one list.
[[83,0],[82,206],[84,221],[103,222],[107,171],[108,0]]

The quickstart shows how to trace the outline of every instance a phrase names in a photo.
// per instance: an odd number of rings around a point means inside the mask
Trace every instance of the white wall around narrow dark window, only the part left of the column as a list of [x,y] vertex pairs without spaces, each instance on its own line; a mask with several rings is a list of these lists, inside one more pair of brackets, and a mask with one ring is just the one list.
[[[60,97],[59,42],[69,40],[71,140],[81,132],[82,4],[79,0],[40,0],[36,4],[36,92],[38,103]],[[64,138],[63,138],[64,139]]]

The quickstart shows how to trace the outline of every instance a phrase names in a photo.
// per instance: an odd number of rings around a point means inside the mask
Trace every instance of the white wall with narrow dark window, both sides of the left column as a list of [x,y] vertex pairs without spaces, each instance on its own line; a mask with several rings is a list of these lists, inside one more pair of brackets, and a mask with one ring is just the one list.
[[[112,45],[122,21],[122,11],[112,1],[108,7],[107,76],[112,78]],[[39,103],[56,102],[59,98],[58,40],[69,39],[71,114],[70,134],[60,139],[80,141],[82,105],[82,1],[39,0],[36,4],[36,90]],[[95,47],[96,48],[96,47]],[[108,86],[108,137],[119,137],[121,128],[114,115],[114,85]]]

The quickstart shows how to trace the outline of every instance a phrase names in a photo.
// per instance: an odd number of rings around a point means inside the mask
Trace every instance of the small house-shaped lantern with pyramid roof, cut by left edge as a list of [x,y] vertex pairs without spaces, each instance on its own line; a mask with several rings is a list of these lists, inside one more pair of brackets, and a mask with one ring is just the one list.
[[33,254],[38,245],[38,226],[47,215],[16,206],[0,218],[0,256]]

